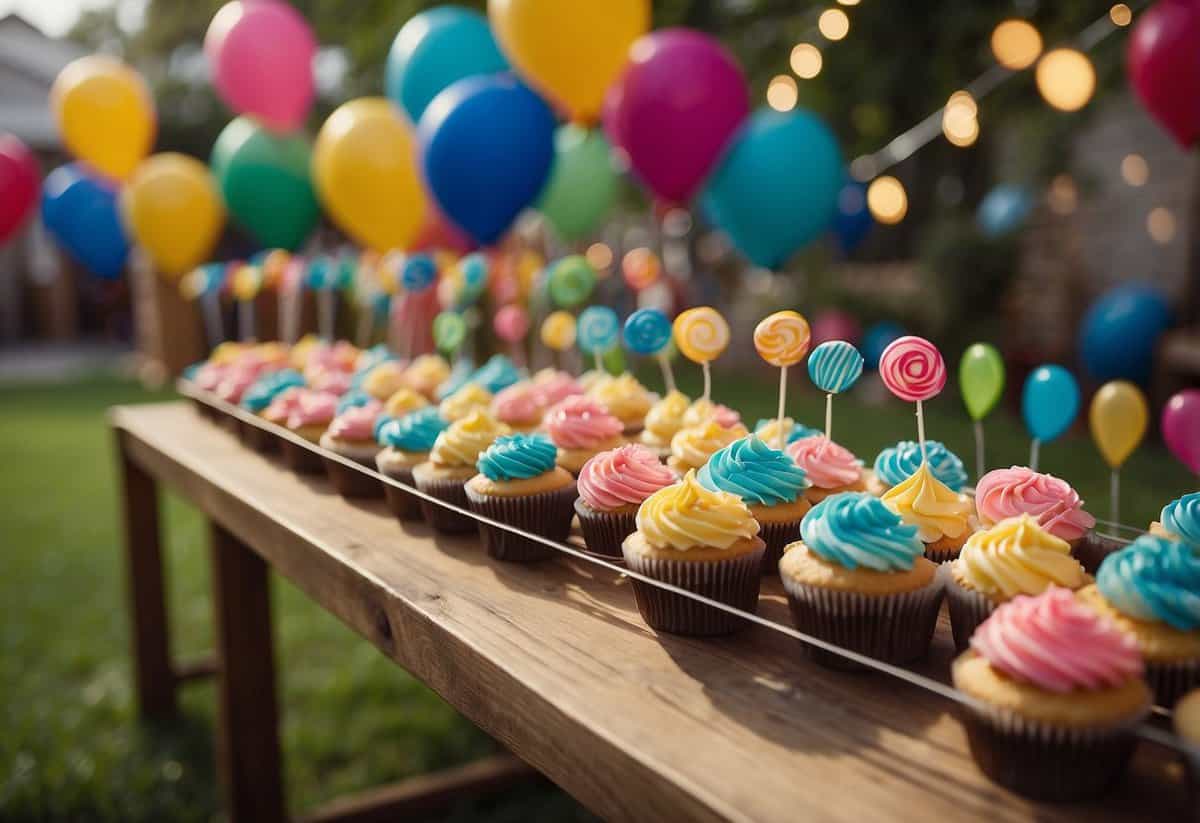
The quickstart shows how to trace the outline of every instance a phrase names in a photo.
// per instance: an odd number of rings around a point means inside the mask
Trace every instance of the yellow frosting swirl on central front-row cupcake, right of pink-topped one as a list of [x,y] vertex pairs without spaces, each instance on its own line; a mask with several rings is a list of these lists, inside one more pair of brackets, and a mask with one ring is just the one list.
[[710,492],[688,471],[637,510],[637,530],[654,548],[730,548],[758,534],[758,521],[737,494]]

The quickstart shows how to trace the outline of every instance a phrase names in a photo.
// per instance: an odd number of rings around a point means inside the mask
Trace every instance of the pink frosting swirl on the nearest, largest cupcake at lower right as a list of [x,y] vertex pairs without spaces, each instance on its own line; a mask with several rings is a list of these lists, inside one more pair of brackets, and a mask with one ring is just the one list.
[[1130,636],[1058,587],[1002,605],[976,629],[971,648],[1004,674],[1054,692],[1120,686],[1142,669]]

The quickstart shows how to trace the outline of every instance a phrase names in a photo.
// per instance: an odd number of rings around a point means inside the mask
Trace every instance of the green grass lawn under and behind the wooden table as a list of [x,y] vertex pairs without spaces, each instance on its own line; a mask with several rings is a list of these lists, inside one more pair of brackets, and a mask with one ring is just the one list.
[[[685,374],[685,389],[695,390]],[[719,379],[716,400],[752,421],[773,413],[769,384]],[[104,409],[145,402],[115,379],[0,386],[0,819],[205,821],[217,807],[212,771],[214,691],[185,689],[181,720],[136,722],[128,669],[116,491]],[[811,389],[790,412],[818,425]],[[834,435],[870,459],[912,438],[911,409],[839,398]],[[929,412],[930,437],[972,464],[970,428],[953,396]],[[991,465],[1024,463],[1018,423],[988,423]],[[1043,468],[1069,479],[1099,516],[1108,473],[1091,443],[1074,435],[1043,450]],[[1122,519],[1145,524],[1168,499],[1194,487],[1160,446],[1142,449],[1124,473]],[[211,644],[208,559],[200,518],[168,497],[164,531],[176,654]],[[452,765],[494,744],[418,681],[276,578],[289,803],[302,810],[347,791]],[[552,788],[523,788],[456,810],[454,819],[571,819],[584,812]]]

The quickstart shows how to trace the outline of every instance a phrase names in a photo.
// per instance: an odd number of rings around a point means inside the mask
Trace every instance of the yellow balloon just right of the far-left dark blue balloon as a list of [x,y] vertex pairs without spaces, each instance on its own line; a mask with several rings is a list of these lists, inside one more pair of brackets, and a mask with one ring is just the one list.
[[224,227],[224,208],[209,167],[168,151],[138,167],[121,191],[125,226],[172,278],[209,258]]

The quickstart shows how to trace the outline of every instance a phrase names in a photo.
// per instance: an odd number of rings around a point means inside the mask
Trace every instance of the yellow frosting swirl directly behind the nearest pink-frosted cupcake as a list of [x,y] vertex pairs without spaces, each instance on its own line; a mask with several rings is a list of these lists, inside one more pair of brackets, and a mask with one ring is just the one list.
[[1004,600],[1042,594],[1051,584],[1078,589],[1085,582],[1084,566],[1072,557],[1067,541],[1028,515],[1009,517],[971,535],[954,563],[960,581]]

